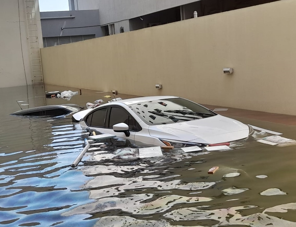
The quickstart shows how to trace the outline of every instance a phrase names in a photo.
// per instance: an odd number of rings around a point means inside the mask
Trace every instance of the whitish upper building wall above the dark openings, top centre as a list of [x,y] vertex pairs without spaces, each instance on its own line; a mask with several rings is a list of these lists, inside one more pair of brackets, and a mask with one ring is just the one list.
[[140,17],[199,0],[77,0],[78,9],[99,9],[101,25]]

